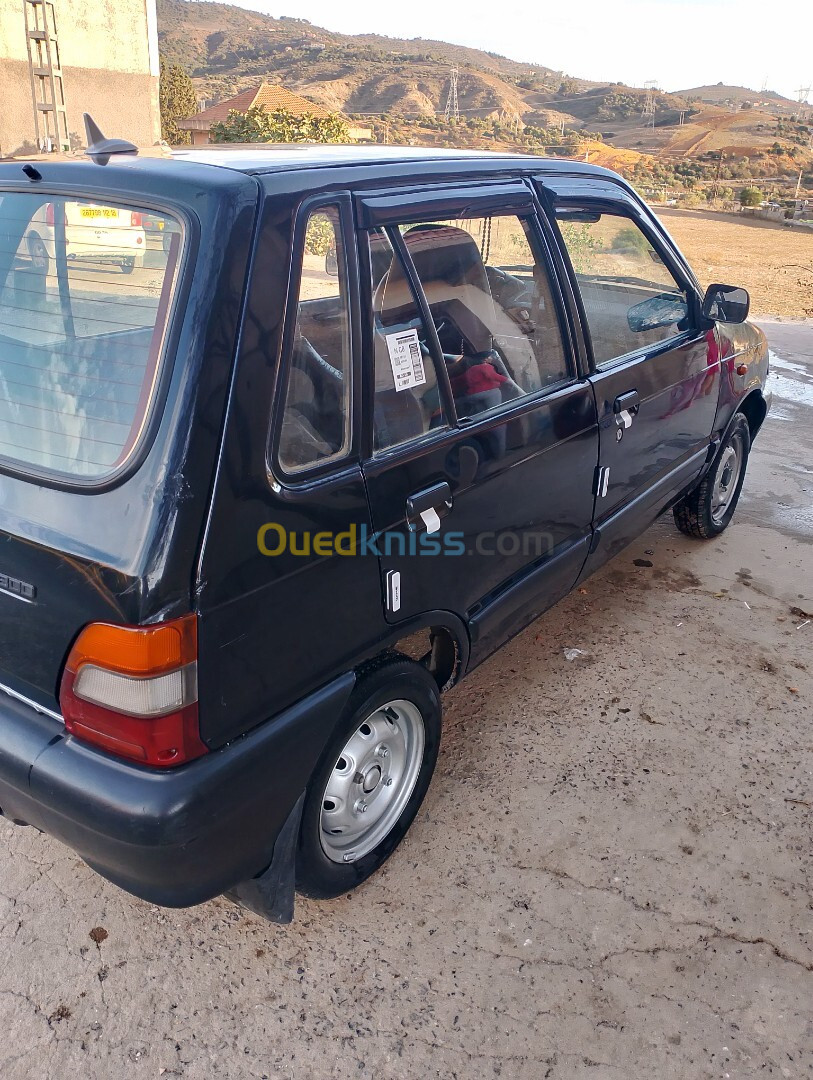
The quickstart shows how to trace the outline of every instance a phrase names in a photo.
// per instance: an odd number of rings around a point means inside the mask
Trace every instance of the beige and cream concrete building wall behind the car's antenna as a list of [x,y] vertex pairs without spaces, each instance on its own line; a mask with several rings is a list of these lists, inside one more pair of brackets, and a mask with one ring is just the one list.
[[[0,157],[62,149],[54,143],[65,136],[84,146],[83,112],[106,135],[152,146],[158,80],[155,0],[0,0]],[[48,108],[52,90],[57,111],[64,94],[58,139],[45,126],[59,122]]]

